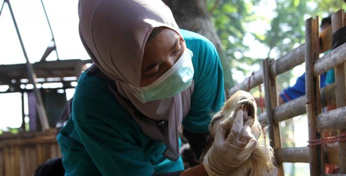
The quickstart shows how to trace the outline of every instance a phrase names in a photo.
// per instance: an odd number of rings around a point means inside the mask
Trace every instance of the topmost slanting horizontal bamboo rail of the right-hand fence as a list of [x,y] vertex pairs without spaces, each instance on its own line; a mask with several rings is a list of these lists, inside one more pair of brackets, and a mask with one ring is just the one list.
[[[320,53],[323,53],[331,48],[331,27],[326,28],[320,33]],[[278,58],[271,63],[270,76],[275,77],[281,73],[291,70],[292,68],[304,63],[305,43],[293,49],[284,56]],[[250,86],[249,86],[250,78]],[[245,79],[243,82],[235,85],[227,91],[227,95],[232,95],[238,90],[248,90],[263,83],[263,73],[261,70],[254,73],[253,76]]]

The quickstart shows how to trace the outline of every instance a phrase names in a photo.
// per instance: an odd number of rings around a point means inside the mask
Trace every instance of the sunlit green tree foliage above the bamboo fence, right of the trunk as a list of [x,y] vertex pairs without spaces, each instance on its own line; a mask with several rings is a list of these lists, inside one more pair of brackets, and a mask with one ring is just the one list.
[[[241,56],[236,53],[245,53],[250,48],[244,44],[244,37],[251,34],[257,42],[264,44],[268,48],[267,57],[279,58],[299,44],[305,42],[305,19],[311,16],[328,16],[341,8],[346,8],[346,3],[342,0],[206,0],[207,8],[211,14],[217,34],[225,49],[229,66],[249,75],[256,70],[244,68],[258,65],[263,58]],[[263,17],[253,10],[265,3],[275,3],[273,9],[274,17]],[[270,10],[268,10],[270,11]],[[253,21],[263,21],[267,23],[264,33],[251,32],[253,30],[245,28]],[[265,26],[259,26],[264,28]],[[254,41],[255,42],[255,41]],[[265,52],[265,51],[263,51]],[[278,90],[283,89],[292,77],[291,72],[280,75],[278,78]],[[284,83],[286,82],[286,83]]]

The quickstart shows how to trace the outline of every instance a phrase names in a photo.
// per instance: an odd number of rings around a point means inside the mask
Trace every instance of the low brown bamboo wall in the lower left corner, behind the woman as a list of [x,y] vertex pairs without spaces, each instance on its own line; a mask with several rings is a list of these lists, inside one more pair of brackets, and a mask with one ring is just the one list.
[[62,157],[56,130],[0,135],[0,175],[31,176],[47,159]]

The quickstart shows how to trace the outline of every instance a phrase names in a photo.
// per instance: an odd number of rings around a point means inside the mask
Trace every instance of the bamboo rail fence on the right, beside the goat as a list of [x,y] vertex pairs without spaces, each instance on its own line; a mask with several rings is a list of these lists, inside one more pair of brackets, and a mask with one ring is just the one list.
[[[344,11],[332,15],[332,25],[319,33],[318,17],[306,20],[306,43],[291,52],[262,62],[260,71],[237,84],[227,95],[237,90],[250,90],[262,83],[265,89],[266,111],[259,115],[259,121],[268,125],[270,145],[274,148],[279,175],[283,175],[283,162],[310,163],[310,175],[346,175],[346,143],[281,148],[279,122],[307,113],[309,141],[322,139],[323,132],[338,130],[346,132],[345,69],[346,43],[334,48],[319,58],[319,54],[331,49],[332,34],[345,26]],[[306,67],[306,95],[277,105],[275,77],[303,64]],[[335,83],[320,89],[319,77],[335,68]],[[322,107],[335,104],[336,109],[322,113]],[[325,174],[324,164],[338,164],[338,174]]]

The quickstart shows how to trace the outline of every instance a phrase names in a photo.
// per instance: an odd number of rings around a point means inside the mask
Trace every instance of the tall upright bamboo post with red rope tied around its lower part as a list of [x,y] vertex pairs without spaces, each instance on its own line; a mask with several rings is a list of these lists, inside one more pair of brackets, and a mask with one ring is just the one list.
[[[309,18],[305,21],[306,34],[305,34],[305,85],[306,85],[306,111],[308,116],[308,130],[309,140],[317,139],[316,133],[316,97],[315,91],[316,79],[314,78],[314,63],[318,58],[319,40],[318,40],[318,17],[314,20]],[[310,175],[319,175],[323,173],[323,165],[320,163],[320,148],[317,146],[309,147],[309,162],[310,162]]]

